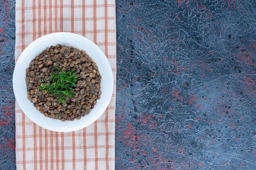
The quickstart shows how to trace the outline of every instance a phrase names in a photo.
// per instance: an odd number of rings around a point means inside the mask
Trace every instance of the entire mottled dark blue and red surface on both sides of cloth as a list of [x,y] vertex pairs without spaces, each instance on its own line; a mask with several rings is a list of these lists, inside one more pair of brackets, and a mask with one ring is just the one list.
[[[117,0],[117,170],[256,169],[256,2]],[[0,170],[15,170],[15,1],[0,1]]]

